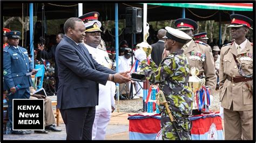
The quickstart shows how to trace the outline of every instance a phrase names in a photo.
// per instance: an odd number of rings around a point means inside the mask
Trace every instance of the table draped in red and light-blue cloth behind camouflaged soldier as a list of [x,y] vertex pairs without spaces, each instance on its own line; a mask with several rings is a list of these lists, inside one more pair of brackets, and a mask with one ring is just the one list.
[[[129,115],[130,140],[161,140],[161,116],[156,113]],[[218,113],[189,117],[192,140],[223,140],[221,117]]]

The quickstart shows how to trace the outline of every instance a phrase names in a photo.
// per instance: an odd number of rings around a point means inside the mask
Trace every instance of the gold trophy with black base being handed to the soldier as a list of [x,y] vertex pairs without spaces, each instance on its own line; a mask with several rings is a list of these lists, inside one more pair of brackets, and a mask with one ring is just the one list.
[[[145,40],[139,44],[136,45],[136,49],[140,48],[143,49],[143,51],[146,52],[147,57],[151,54],[152,47],[147,43],[147,37],[149,37],[149,24],[147,23],[146,26],[146,34],[145,34]],[[137,60],[135,61],[137,62]],[[140,82],[145,82],[146,77],[144,75],[143,70],[137,70],[135,73],[131,74],[131,80],[133,81],[140,81]]]

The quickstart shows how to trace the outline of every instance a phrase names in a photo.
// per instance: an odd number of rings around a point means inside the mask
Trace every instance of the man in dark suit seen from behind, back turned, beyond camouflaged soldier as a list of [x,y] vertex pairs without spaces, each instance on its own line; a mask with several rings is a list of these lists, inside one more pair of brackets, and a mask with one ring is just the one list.
[[159,39],[155,44],[152,44],[152,52],[151,58],[159,66],[160,62],[162,61],[162,53],[164,51],[164,40],[163,37],[166,34],[166,30],[160,29],[157,32],[157,38]]

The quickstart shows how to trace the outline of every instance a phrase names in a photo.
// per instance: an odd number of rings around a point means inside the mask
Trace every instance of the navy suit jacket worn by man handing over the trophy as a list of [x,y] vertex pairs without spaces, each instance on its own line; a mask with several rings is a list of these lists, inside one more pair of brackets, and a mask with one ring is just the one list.
[[95,60],[87,48],[64,36],[59,42],[55,59],[59,85],[57,108],[71,109],[98,105],[99,83],[105,85],[109,74],[115,74]]

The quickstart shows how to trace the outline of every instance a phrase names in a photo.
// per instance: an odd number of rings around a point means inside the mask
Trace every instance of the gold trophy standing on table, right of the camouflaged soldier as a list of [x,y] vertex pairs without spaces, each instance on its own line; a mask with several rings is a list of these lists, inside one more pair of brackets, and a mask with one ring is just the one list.
[[199,69],[196,67],[191,67],[190,74],[192,76],[188,79],[188,87],[190,87],[193,92],[193,109],[198,109],[196,92],[204,85],[205,79],[198,77]]

